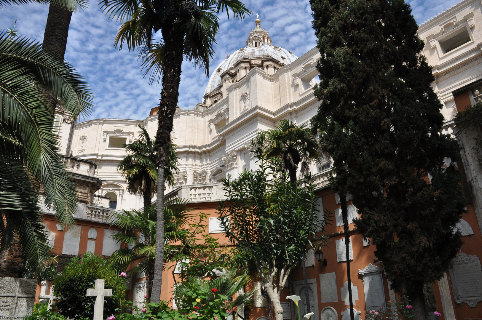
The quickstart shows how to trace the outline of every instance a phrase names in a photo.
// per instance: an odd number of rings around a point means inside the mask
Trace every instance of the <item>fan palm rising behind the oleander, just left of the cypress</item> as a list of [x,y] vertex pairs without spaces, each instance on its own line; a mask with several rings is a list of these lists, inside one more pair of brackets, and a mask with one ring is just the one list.
[[[272,130],[267,131],[268,157],[280,157],[284,169],[288,171],[290,180],[296,181],[298,164],[301,161],[301,171],[307,171],[311,162],[320,161],[320,147],[318,141],[311,134],[308,124],[298,126],[290,120],[283,119]],[[305,301],[307,313],[310,313],[308,277],[306,274],[305,259],[301,259],[303,280],[305,286]],[[291,289],[291,285],[290,285]],[[293,289],[291,289],[293,290]],[[293,292],[290,292],[293,294]]]

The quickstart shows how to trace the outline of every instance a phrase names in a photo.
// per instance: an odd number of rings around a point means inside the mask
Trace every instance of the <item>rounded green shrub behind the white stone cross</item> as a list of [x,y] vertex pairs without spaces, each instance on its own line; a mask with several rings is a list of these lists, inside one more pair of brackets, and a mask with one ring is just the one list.
[[74,257],[54,279],[54,295],[59,297],[55,307],[59,313],[72,318],[94,318],[95,297],[86,296],[88,288],[94,288],[96,279],[104,279],[105,288],[112,289],[112,296],[104,298],[104,315],[110,316],[125,307],[125,278],[112,270],[107,260],[93,253]]

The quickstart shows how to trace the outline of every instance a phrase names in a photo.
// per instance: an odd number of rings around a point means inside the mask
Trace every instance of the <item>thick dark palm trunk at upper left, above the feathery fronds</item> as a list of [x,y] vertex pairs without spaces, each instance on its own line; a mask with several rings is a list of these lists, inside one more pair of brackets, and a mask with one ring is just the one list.
[[71,11],[50,5],[42,49],[51,52],[60,61],[64,61],[71,17]]

